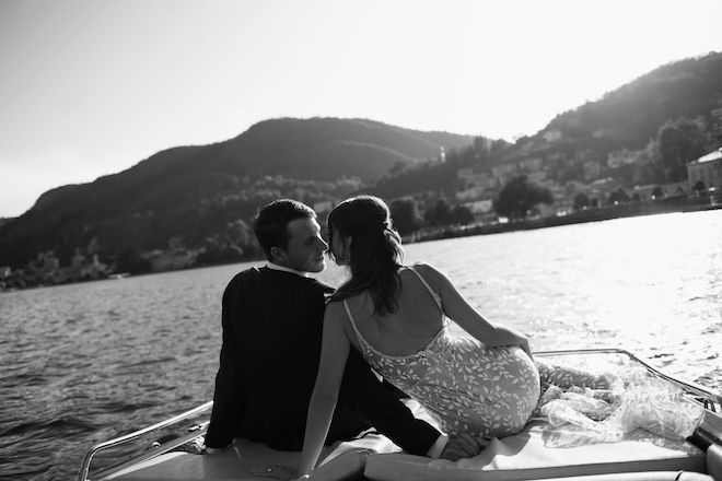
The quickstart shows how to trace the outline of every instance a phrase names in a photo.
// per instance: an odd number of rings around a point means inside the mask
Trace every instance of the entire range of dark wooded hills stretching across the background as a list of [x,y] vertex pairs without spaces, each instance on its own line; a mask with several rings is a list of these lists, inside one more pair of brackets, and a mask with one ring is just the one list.
[[[275,198],[314,204],[362,190],[428,203],[468,187],[458,179],[461,168],[490,173],[534,161],[545,181],[561,190],[570,180],[657,181],[650,176],[659,172],[641,167],[649,167],[645,150],[668,122],[695,120],[710,151],[714,142],[719,146],[711,132],[722,131],[721,79],[722,54],[672,62],[514,144],[361,119],[263,121],[225,142],[170,149],[125,172],[44,193],[30,211],[0,225],[0,266],[22,268],[46,250],[66,266],[77,248],[107,259],[170,244],[251,246],[247,224]],[[441,146],[445,162],[436,162]],[[622,167],[612,168],[612,157],[622,159]],[[492,198],[496,191],[484,193]]]

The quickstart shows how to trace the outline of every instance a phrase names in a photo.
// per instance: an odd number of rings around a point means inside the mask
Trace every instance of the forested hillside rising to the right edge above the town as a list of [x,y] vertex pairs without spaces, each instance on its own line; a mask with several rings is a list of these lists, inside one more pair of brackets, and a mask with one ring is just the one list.
[[446,163],[410,166],[373,191],[382,197],[453,191],[461,187],[459,168],[491,173],[525,159],[539,159],[548,180],[559,186],[603,178],[628,187],[679,181],[686,178],[685,163],[719,146],[721,136],[722,54],[709,54],[662,66],[514,144],[477,138],[449,152]]

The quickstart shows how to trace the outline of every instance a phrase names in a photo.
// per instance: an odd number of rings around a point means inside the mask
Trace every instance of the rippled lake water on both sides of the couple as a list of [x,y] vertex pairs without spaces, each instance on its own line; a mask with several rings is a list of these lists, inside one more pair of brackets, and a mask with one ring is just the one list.
[[[534,350],[621,347],[722,387],[722,210],[406,246],[416,260]],[[249,266],[0,294],[0,479],[72,479],[93,444],[212,399],[221,295]]]

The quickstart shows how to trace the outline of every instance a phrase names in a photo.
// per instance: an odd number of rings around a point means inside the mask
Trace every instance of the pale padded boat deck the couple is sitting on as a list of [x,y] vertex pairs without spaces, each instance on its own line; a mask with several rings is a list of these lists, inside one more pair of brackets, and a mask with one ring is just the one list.
[[[421,409],[414,402],[409,402],[412,409]],[[706,414],[702,432],[717,430],[720,423],[722,418],[719,415]],[[712,449],[717,449],[718,458],[714,462],[722,466],[720,446],[713,445]],[[260,443],[241,439],[217,455],[167,453],[102,479],[257,481],[259,478],[254,471],[269,466],[294,467],[300,456],[300,453],[277,451]],[[377,434],[354,442],[338,443],[326,448],[324,456],[327,459],[322,468],[314,471],[314,480],[571,481],[629,479],[624,477],[641,477],[642,473],[644,478],[641,479],[673,480],[677,479],[680,471],[687,473],[687,479],[714,479],[706,476],[711,469],[708,466],[708,453],[689,441],[674,441],[637,430],[615,443],[599,442],[590,438],[583,430],[573,426],[552,427],[544,421],[529,423],[517,435],[492,439],[479,456],[459,461],[430,460],[404,454],[391,441]],[[696,478],[691,478],[694,473],[697,473]]]

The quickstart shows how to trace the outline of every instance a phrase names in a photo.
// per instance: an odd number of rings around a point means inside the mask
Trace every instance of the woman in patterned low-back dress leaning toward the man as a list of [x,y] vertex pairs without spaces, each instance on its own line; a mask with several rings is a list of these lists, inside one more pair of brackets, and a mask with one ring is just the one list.
[[[350,349],[447,434],[520,432],[539,398],[527,338],[485,319],[434,267],[403,266],[400,236],[383,200],[343,201],[328,214],[328,228],[330,256],[350,279],[326,307],[298,474],[310,473],[318,459]],[[452,336],[447,318],[473,338]]]

